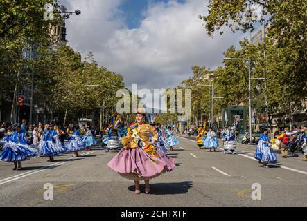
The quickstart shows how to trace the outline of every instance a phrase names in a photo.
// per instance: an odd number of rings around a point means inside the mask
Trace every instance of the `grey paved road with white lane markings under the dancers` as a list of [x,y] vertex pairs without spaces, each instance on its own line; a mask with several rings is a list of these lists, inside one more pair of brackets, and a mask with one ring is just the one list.
[[[307,206],[307,165],[298,157],[265,169],[254,160],[255,146],[238,145],[238,155],[200,150],[195,140],[178,137],[171,151],[175,170],[151,181],[151,194],[134,193],[134,184],[107,167],[116,152],[100,146],[71,154],[27,160],[11,171],[0,162],[0,206]],[[44,184],[53,184],[53,200],[44,200]],[[261,200],[252,200],[252,184]],[[141,185],[143,191],[144,185]]]

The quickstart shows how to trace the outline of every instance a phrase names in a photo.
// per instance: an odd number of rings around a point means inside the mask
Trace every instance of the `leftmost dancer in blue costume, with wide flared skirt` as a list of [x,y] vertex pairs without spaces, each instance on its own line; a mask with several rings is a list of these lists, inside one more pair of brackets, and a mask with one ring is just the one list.
[[[0,160],[5,162],[14,162],[13,171],[21,170],[21,160],[27,160],[37,155],[37,150],[28,145],[26,133],[21,132],[19,124],[13,124],[14,132],[5,139],[3,151],[0,154]],[[17,167],[18,164],[18,167]]]

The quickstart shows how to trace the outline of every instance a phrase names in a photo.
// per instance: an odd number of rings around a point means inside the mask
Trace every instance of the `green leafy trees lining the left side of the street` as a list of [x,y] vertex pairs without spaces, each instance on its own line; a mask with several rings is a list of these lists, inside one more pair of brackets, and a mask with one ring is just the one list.
[[0,110],[11,104],[14,122],[19,89],[33,87],[33,106],[44,108],[46,122],[53,117],[76,122],[89,113],[107,122],[116,90],[125,87],[123,77],[99,67],[91,52],[82,59],[69,46],[51,49],[50,28],[62,24],[62,17],[44,19],[46,3],[0,0]]

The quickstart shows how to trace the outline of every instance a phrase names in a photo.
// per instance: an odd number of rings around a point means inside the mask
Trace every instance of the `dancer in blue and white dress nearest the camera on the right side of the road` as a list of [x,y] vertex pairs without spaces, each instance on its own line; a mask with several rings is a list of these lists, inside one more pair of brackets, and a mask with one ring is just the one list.
[[262,128],[255,158],[259,160],[258,162],[262,163],[265,168],[268,167],[267,164],[277,162],[277,155],[272,148],[270,138],[267,136],[267,128]]

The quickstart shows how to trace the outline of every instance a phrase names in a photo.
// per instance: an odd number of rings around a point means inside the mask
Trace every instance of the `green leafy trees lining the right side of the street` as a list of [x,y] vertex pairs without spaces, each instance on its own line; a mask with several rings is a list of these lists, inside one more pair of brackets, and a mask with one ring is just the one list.
[[[265,24],[265,42],[254,45],[244,39],[240,41],[240,48],[231,46],[224,56],[250,57],[253,78],[263,78],[266,73],[269,120],[281,110],[290,116],[301,110],[302,101],[307,97],[307,2],[210,0],[208,7],[208,15],[200,15],[200,19],[206,22],[207,33],[211,37],[225,26],[233,32],[246,32]],[[261,16],[257,17],[259,8]],[[222,106],[248,104],[247,62],[225,60],[224,66],[213,72],[206,67],[195,66],[192,69],[193,77],[183,81],[179,88],[191,88],[193,122],[211,117],[211,88],[200,85],[214,84],[216,97],[223,97],[215,104],[215,113],[219,115]],[[258,113],[266,111],[263,81],[252,81],[252,108]]]

